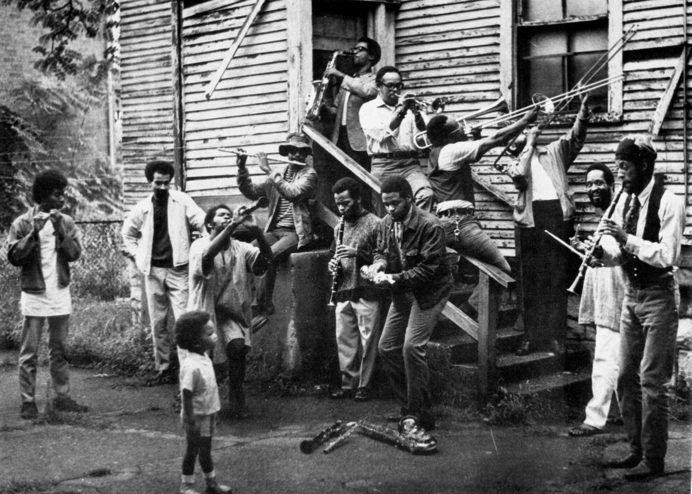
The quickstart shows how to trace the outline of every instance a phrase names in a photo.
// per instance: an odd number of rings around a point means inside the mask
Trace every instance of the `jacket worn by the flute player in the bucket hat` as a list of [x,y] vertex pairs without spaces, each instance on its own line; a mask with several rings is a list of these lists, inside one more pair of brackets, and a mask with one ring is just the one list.
[[269,218],[264,231],[269,231],[273,225],[278,212],[279,198],[293,203],[293,225],[300,248],[311,243],[314,238],[312,202],[317,189],[317,172],[310,165],[298,167],[293,175],[293,182],[286,182],[284,173],[287,167],[289,165],[273,171],[261,184],[253,182],[247,168],[238,170],[236,180],[240,193],[246,198],[257,200],[264,196],[269,200]]

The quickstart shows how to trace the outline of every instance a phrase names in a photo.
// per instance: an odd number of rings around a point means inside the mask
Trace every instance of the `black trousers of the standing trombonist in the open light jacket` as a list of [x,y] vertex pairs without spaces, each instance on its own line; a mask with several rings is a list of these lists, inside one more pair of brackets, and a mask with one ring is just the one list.
[[570,251],[545,233],[566,243],[574,235],[572,221],[563,220],[559,200],[534,201],[534,227],[515,227],[519,260],[519,300],[524,316],[525,341],[532,352],[564,343],[567,334],[567,287]]

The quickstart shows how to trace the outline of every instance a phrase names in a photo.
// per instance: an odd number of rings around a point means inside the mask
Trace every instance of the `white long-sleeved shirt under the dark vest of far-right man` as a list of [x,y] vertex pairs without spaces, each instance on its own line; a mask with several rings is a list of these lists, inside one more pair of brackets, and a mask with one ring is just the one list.
[[[685,208],[682,201],[674,193],[668,190],[664,191],[658,209],[658,218],[661,221],[661,229],[658,233],[659,241],[650,242],[641,238],[644,235],[644,227],[646,227],[646,215],[653,185],[654,179],[652,178],[637,196],[641,204],[639,221],[637,221],[637,236],[628,235],[623,248],[652,266],[673,266],[680,256],[680,242],[685,227]],[[622,225],[623,222],[622,213],[625,209],[626,200],[627,196],[623,194],[612,213],[611,219],[618,225]],[[601,245],[603,245],[603,263],[616,265],[621,262],[620,246],[614,237],[604,235],[601,238]]]

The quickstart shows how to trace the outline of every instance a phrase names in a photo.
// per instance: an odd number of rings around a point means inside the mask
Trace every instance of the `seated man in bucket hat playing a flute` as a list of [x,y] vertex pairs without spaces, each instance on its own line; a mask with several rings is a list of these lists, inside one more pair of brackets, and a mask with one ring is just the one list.
[[[307,162],[312,148],[306,135],[291,133],[280,144],[279,154],[293,163],[271,169],[266,153],[257,153],[260,169],[266,173],[261,183],[255,183],[245,167],[247,155],[238,155],[237,183],[240,192],[250,200],[264,196],[269,200],[269,217],[264,229],[274,257],[264,278],[257,285],[257,314],[274,313],[271,296],[276,281],[276,266],[296,250],[305,249],[313,240],[313,213],[309,201],[315,195],[317,173]],[[309,159],[311,161],[311,158]],[[304,164],[298,164],[304,163]]]

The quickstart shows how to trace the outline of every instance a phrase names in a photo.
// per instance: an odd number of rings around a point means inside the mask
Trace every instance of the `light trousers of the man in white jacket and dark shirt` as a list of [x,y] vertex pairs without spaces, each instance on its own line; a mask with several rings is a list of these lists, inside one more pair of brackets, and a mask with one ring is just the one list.
[[156,370],[170,367],[170,351],[174,335],[168,330],[167,315],[169,307],[173,317],[185,314],[188,307],[188,265],[178,267],[154,267],[144,277],[147,289],[149,319],[152,321],[152,340],[154,341],[154,364]]

